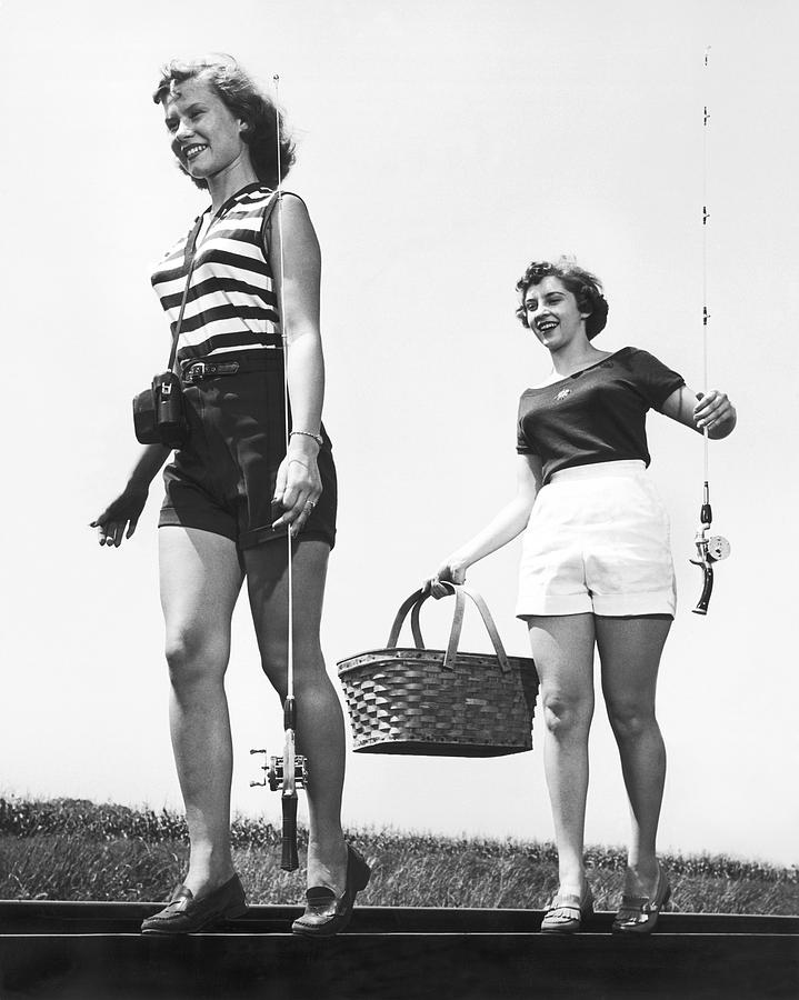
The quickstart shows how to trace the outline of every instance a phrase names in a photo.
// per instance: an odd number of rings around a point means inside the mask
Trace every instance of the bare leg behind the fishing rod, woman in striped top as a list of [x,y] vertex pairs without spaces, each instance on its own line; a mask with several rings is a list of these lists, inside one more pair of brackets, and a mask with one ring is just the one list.
[[[341,831],[344,779],[344,727],[336,690],[324,669],[319,624],[330,547],[306,540],[296,544],[293,573],[294,697],[297,747],[308,758],[308,884],[328,886],[340,896],[347,873]],[[263,670],[281,703],[287,689],[288,569],[281,541],[244,552],[250,608]]]

